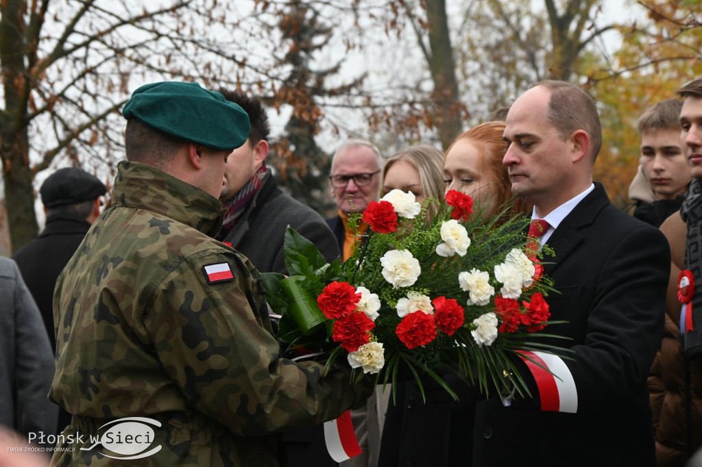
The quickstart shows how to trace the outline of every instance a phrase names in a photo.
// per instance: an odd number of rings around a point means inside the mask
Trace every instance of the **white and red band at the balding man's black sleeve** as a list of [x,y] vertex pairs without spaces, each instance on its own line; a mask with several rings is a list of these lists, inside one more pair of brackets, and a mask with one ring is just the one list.
[[571,414],[578,412],[578,389],[563,359],[547,352],[519,353],[536,381],[541,397],[541,410]]

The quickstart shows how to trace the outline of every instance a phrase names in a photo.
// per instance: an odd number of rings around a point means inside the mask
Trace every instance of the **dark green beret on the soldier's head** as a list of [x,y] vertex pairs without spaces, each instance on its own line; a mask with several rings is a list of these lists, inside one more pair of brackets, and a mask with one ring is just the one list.
[[249,115],[239,105],[198,83],[161,81],[141,86],[122,109],[125,119],[181,140],[231,150],[249,137]]

